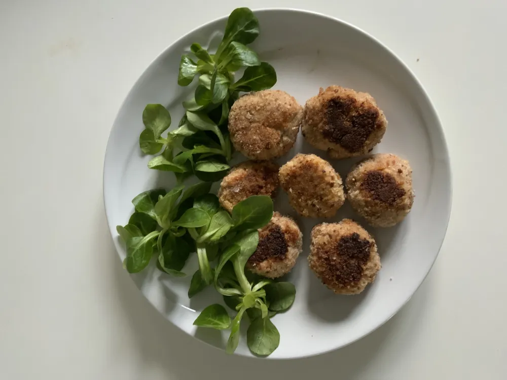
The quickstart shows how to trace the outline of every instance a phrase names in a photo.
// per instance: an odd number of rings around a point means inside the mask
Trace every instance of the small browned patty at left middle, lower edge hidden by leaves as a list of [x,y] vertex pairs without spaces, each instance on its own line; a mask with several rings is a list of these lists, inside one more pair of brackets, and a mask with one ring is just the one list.
[[220,184],[219,200],[231,212],[233,207],[252,195],[274,198],[280,186],[278,165],[271,161],[245,161],[233,167]]

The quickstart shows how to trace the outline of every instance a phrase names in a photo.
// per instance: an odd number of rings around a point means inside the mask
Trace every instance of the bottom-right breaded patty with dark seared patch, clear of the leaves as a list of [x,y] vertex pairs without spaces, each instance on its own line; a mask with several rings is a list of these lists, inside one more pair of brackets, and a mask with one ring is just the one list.
[[350,219],[313,227],[308,263],[337,294],[362,292],[381,268],[375,240]]

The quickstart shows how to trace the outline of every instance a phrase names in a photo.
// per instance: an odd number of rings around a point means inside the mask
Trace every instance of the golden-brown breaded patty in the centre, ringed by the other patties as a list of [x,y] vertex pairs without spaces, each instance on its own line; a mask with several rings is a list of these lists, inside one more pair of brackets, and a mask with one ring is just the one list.
[[340,174],[318,156],[298,154],[278,176],[289,203],[303,216],[331,217],[345,202]]

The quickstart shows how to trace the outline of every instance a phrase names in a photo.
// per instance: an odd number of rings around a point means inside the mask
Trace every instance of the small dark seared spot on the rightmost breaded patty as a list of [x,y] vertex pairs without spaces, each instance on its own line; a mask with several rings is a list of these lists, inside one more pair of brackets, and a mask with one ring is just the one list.
[[380,170],[367,172],[365,179],[361,182],[361,188],[370,193],[372,199],[390,206],[405,195],[405,190],[400,187],[394,177]]

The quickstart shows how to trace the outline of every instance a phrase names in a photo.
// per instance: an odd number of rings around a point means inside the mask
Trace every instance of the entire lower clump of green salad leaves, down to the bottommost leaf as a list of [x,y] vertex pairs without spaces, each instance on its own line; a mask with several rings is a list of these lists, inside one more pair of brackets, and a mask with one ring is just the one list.
[[[224,296],[226,305],[237,311],[231,321],[221,305],[205,308],[194,324],[201,327],[231,329],[227,352],[233,353],[239,342],[239,325],[246,313],[250,321],[247,344],[257,355],[269,355],[280,340],[270,318],[291,307],[296,295],[294,285],[253,277],[245,273],[249,257],[259,243],[258,229],[273,215],[268,196],[252,196],[238,203],[232,214],[222,209],[214,194],[208,194],[210,182],[171,191],[153,189],[132,200],[135,211],[125,226],[117,226],[125,241],[124,266],[130,273],[142,271],[152,257],[158,268],[176,277],[192,252],[197,252],[199,269],[192,276],[189,297],[213,284]],[[221,252],[218,263],[210,262]]]

